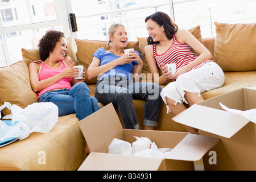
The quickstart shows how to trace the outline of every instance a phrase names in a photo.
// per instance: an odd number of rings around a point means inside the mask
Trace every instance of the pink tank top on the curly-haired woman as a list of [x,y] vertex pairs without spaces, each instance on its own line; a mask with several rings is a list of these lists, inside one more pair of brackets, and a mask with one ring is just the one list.
[[[65,69],[68,68],[64,61],[60,61],[61,67],[59,69],[53,69],[53,68],[49,67],[47,64],[45,64],[43,61],[34,61],[34,63],[36,63],[36,62],[42,63],[39,73],[38,73],[39,81],[45,80],[45,79],[53,77],[55,75],[58,75],[59,73],[64,72]],[[38,98],[43,93],[46,93],[53,89],[64,89],[64,88],[71,89],[72,88],[71,81],[72,81],[72,77],[63,78],[62,80],[56,82],[55,84],[52,84],[52,85],[48,86],[47,88],[40,90],[38,92]]]

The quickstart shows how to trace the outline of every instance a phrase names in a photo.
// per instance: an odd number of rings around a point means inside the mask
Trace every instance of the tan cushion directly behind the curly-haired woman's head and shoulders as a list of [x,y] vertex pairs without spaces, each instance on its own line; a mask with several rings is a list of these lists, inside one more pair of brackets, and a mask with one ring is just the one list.
[[[77,57],[76,57],[76,51],[75,51],[74,44],[73,44],[74,43],[73,37],[71,36],[66,40],[67,40],[67,44],[68,44],[67,56],[70,56],[72,58],[72,60],[77,64]],[[41,60],[38,48],[34,48],[34,49],[22,48],[22,57],[27,65],[29,65],[33,61]]]

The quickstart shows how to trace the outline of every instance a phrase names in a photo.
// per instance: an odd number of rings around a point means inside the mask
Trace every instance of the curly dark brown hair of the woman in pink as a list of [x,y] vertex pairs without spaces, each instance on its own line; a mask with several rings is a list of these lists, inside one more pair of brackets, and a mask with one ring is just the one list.
[[42,61],[45,61],[49,54],[53,51],[56,43],[64,37],[64,33],[56,30],[48,30],[46,34],[39,40],[39,55]]

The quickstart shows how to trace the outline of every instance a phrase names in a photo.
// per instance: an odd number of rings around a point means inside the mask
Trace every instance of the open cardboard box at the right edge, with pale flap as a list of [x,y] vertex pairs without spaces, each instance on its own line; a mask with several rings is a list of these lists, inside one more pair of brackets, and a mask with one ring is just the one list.
[[189,107],[172,118],[184,125],[196,127],[200,135],[220,138],[212,148],[217,152],[217,164],[205,163],[206,170],[256,170],[256,124],[242,115],[225,111],[256,108],[256,90],[242,88]]

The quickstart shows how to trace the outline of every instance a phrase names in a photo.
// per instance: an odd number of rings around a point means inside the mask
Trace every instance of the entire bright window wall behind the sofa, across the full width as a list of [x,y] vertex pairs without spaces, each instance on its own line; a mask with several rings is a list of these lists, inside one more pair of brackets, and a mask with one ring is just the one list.
[[[48,29],[68,38],[108,40],[114,22],[127,27],[129,40],[146,37],[144,18],[164,11],[189,29],[215,36],[214,21],[255,23],[255,0],[0,0],[0,67],[22,59],[21,48],[36,48]],[[78,31],[72,32],[69,13],[75,13]]]

